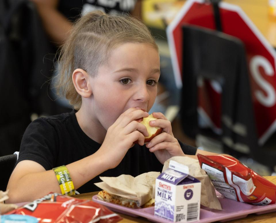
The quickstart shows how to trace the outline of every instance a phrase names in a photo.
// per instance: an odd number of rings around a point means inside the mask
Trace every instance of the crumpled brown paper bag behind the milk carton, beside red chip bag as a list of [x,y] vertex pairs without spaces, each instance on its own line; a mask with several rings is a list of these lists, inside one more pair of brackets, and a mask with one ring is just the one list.
[[170,160],[174,160],[189,167],[189,175],[195,177],[201,182],[201,201],[200,203],[208,208],[221,210],[221,203],[216,197],[215,188],[212,185],[210,178],[202,168],[200,168],[198,160],[189,158],[187,156],[175,156],[164,163],[163,170],[169,167]]

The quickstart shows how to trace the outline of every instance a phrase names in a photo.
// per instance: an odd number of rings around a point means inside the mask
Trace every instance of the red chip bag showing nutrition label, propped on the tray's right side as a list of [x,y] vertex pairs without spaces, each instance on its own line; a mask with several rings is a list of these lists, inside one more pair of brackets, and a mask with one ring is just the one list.
[[276,185],[239,160],[225,155],[201,154],[198,160],[216,190],[225,197],[255,205],[276,203]]

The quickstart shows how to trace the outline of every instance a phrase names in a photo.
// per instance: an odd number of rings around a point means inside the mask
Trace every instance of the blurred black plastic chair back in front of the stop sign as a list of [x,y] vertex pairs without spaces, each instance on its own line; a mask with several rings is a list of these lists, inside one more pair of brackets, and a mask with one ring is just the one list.
[[[199,78],[220,83],[221,135],[198,125]],[[188,136],[214,137],[223,144],[223,152],[237,158],[259,149],[246,53],[238,38],[219,31],[183,26],[182,80],[181,124]]]

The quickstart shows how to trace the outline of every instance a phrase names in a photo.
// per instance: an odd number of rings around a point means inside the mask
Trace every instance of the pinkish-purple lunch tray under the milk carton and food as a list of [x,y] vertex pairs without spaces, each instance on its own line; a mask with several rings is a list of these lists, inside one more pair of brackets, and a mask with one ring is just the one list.
[[[216,192],[218,200],[221,203],[223,210],[218,211],[214,209],[209,209],[204,206],[200,208],[200,220],[194,221],[194,223],[209,223],[209,222],[225,222],[230,220],[235,220],[239,218],[245,218],[248,214],[265,214],[269,212],[276,211],[276,204],[266,205],[266,206],[256,206],[252,204],[242,203],[239,201],[234,201],[231,199],[224,198],[220,193]],[[92,197],[92,200],[105,205],[110,210],[126,214],[132,217],[144,217],[152,222],[158,223],[172,223],[172,221],[161,218],[154,215],[154,207],[133,209],[127,208],[121,205],[109,203],[106,201],[101,201],[97,199],[97,195]]]

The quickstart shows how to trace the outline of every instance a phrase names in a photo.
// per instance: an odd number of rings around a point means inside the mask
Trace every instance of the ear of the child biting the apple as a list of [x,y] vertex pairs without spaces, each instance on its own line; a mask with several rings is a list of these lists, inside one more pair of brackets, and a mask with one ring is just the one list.
[[75,69],[72,75],[73,84],[79,95],[88,98],[92,94],[91,86],[89,86],[89,74],[83,69]]

